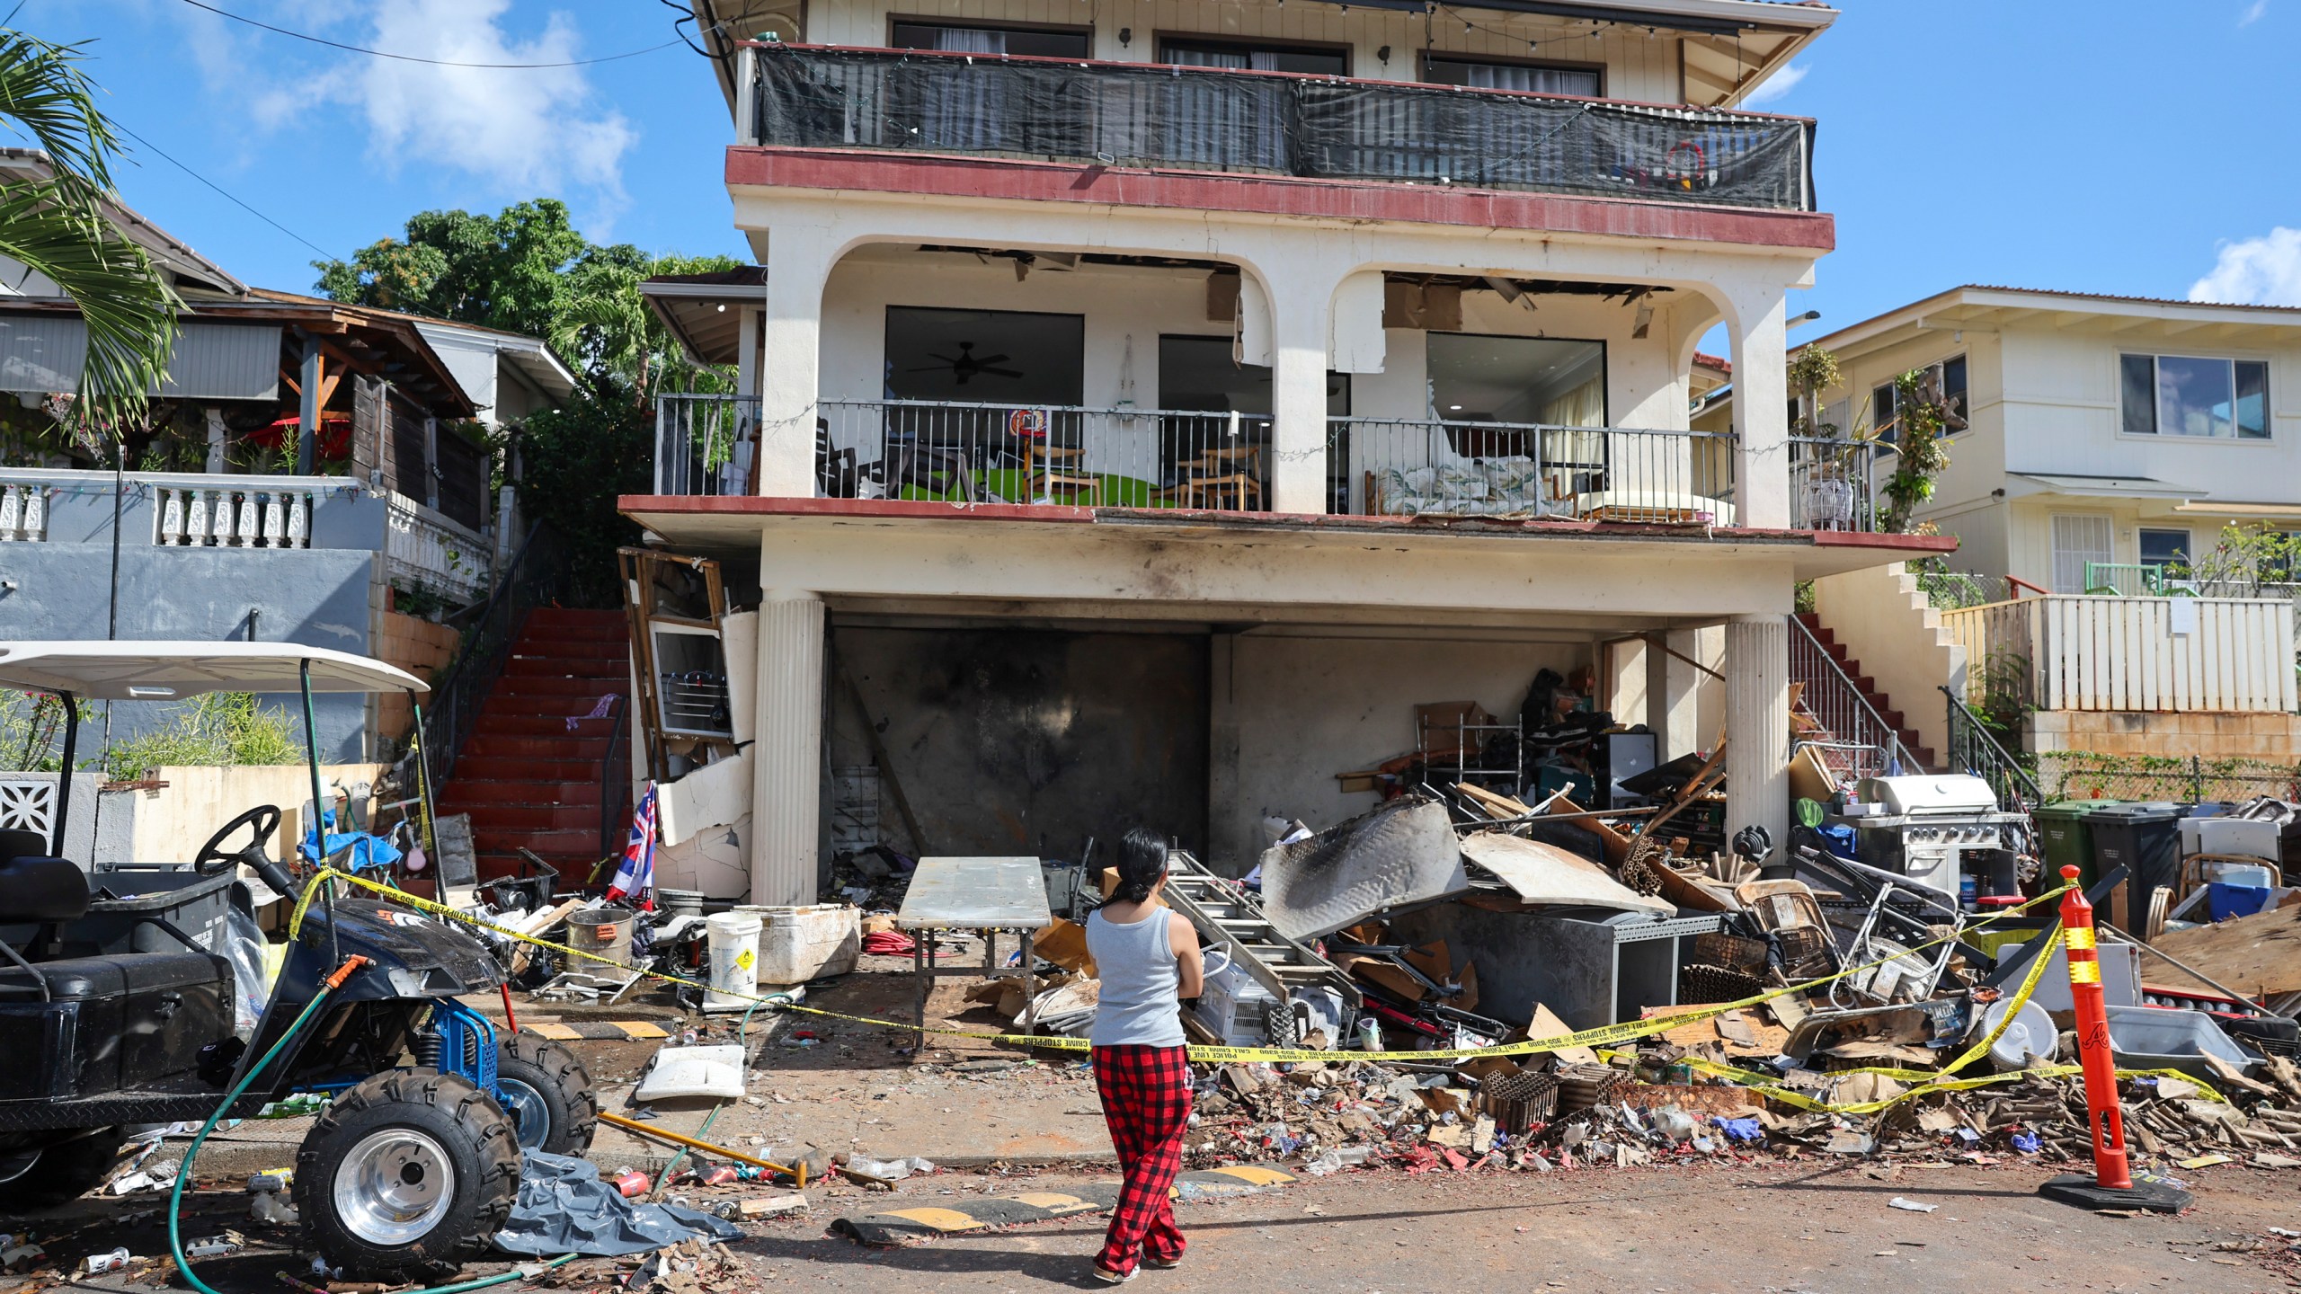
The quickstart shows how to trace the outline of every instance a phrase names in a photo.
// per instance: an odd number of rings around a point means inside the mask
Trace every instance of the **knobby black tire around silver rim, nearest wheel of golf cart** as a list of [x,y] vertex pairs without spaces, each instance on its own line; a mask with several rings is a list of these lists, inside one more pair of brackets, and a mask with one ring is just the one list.
[[[380,1246],[336,1213],[336,1172],[387,1128],[439,1147],[453,1172],[449,1207],[405,1243]],[[520,1195],[520,1142],[511,1114],[472,1080],[430,1068],[368,1075],[336,1096],[295,1156],[295,1204],[313,1248],[352,1280],[442,1280],[479,1259]]]

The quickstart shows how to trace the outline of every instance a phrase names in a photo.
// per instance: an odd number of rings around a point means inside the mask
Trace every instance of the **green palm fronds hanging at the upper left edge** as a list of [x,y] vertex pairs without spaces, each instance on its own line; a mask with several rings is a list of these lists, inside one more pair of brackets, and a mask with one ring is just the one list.
[[143,421],[168,375],[179,299],[140,246],[106,219],[113,124],[76,67],[81,46],[0,28],[0,120],[48,154],[53,175],[0,180],[0,256],[46,274],[81,306],[87,359],[76,431],[120,435]]

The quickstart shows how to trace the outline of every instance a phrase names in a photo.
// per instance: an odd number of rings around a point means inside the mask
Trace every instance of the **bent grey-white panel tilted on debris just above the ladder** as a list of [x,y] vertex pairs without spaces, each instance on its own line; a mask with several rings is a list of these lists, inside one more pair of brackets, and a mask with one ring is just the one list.
[[1263,850],[1263,914],[1289,939],[1468,891],[1454,822],[1434,799],[1394,799],[1307,840]]

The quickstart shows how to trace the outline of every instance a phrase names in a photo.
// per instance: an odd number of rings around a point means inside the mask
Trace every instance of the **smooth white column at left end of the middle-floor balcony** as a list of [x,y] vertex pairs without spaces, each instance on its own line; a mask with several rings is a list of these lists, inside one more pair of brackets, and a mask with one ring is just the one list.
[[766,311],[759,315],[757,493],[815,497],[815,417],[821,373],[824,281],[838,244],[817,226],[766,235]]

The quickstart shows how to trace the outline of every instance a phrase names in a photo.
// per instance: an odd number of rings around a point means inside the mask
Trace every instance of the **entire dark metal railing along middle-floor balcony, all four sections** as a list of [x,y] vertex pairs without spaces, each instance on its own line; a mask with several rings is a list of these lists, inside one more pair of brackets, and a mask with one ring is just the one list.
[[[656,493],[743,495],[755,396],[660,396]],[[815,495],[1270,511],[1268,414],[946,401],[817,401]],[[1790,525],[1875,530],[1873,454],[1792,442]],[[1335,516],[1740,525],[1723,431],[1328,419]]]

